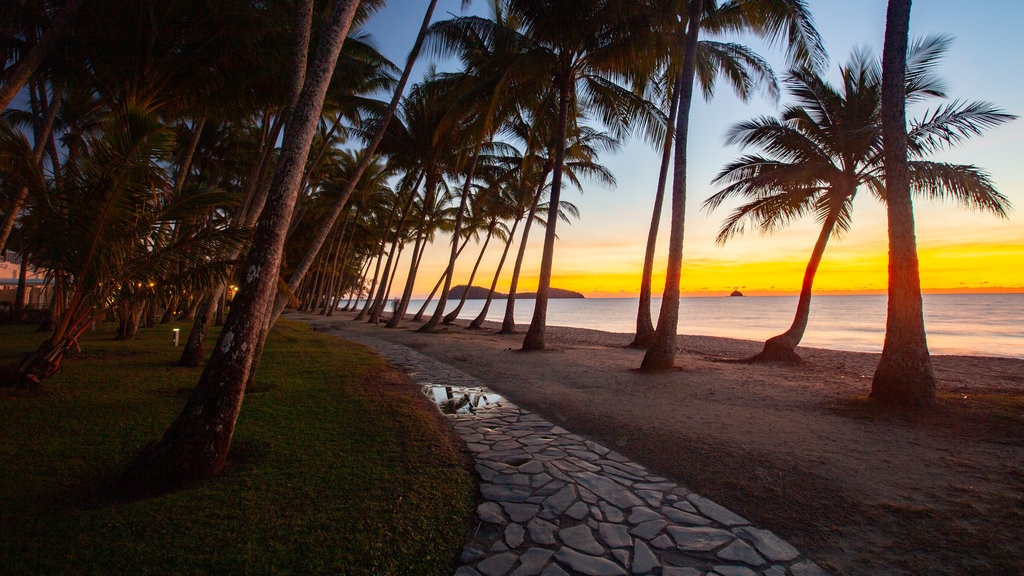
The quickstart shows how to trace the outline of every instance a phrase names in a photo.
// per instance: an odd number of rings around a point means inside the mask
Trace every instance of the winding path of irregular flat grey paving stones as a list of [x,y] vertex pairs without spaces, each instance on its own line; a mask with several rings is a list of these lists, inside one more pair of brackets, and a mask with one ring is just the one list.
[[[338,334],[424,386],[490,394],[408,346]],[[613,450],[507,400],[477,402],[471,412],[446,414],[472,454],[484,499],[455,576],[827,575],[772,532]]]

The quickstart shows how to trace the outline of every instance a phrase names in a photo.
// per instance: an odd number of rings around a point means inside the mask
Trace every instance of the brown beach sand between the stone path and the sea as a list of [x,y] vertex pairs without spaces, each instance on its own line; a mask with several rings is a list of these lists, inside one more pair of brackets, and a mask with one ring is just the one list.
[[1024,574],[1022,360],[933,357],[940,404],[908,416],[864,402],[873,354],[800,348],[803,365],[751,365],[723,359],[759,342],[680,336],[676,369],[644,374],[630,334],[550,327],[548,349],[527,354],[494,325],[419,334],[292,316],[443,360],[836,574]]

